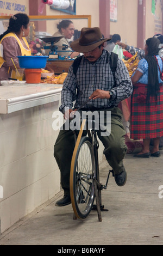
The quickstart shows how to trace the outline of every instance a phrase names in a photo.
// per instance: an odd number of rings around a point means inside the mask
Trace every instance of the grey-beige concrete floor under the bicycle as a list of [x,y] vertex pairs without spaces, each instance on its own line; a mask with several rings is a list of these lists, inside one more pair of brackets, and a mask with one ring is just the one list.
[[[163,245],[163,151],[161,157],[137,159],[126,155],[125,186],[118,187],[112,176],[102,191],[102,212],[85,220],[73,220],[71,205],[56,207],[62,192],[0,235],[0,245]],[[101,164],[105,183],[109,166]],[[162,189],[159,190],[159,186]],[[162,191],[162,192],[161,192]]]

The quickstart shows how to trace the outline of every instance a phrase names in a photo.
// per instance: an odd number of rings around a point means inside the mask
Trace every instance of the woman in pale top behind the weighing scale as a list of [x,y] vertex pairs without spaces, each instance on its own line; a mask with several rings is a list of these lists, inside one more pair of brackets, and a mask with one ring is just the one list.
[[[62,51],[66,45],[67,48],[65,49],[65,52],[58,52],[59,56],[70,56],[71,58],[74,58],[79,55],[79,52],[72,52],[72,48],[70,47],[70,44],[67,39],[71,39],[74,35],[74,25],[71,20],[62,20],[58,25],[58,32],[54,33],[53,36],[64,36],[61,38],[57,43],[54,45],[58,46],[58,51]],[[70,51],[70,52],[68,52]]]

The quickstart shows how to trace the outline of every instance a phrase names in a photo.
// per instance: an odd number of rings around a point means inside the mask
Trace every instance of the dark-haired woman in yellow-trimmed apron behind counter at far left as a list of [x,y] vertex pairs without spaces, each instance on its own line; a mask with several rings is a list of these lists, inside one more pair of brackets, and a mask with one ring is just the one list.
[[[30,56],[26,40],[29,34],[29,17],[18,13],[10,17],[7,31],[0,35],[0,81],[15,78],[15,66],[20,69],[17,56]],[[12,60],[11,60],[12,58]]]

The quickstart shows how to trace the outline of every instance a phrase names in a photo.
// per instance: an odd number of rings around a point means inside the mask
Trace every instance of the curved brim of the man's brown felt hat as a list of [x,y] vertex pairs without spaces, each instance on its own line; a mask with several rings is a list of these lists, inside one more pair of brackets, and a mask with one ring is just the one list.
[[90,51],[93,51],[95,50],[99,45],[103,44],[103,42],[106,42],[106,41],[110,41],[110,39],[108,38],[104,38],[103,40],[99,41],[99,42],[96,42],[95,44],[92,44],[92,45],[80,45],[79,44],[79,39],[73,41],[70,46],[72,48],[73,51],[76,51],[76,52],[90,52]]

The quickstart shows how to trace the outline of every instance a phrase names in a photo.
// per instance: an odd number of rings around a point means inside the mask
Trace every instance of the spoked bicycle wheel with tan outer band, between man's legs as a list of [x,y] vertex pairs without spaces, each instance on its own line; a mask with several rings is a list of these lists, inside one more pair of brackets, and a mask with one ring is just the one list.
[[91,143],[90,138],[82,137],[71,163],[70,196],[78,218],[89,215],[95,199],[93,176],[96,176],[96,167]]

